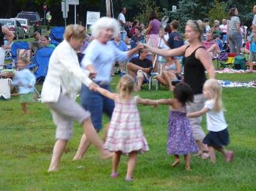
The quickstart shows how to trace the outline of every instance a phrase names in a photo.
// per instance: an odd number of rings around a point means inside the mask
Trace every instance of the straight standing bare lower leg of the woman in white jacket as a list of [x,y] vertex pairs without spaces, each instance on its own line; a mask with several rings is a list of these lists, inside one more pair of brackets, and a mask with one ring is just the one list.
[[58,171],[59,161],[61,160],[61,155],[66,148],[67,141],[66,140],[57,140],[53,147],[53,156],[50,161],[50,167],[48,171]]

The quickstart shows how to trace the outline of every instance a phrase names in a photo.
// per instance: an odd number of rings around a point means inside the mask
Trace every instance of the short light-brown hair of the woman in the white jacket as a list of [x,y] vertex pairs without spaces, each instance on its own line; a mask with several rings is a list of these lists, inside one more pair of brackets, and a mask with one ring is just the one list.
[[86,39],[86,29],[78,24],[67,26],[64,33],[64,39],[69,42],[72,37],[74,39]]

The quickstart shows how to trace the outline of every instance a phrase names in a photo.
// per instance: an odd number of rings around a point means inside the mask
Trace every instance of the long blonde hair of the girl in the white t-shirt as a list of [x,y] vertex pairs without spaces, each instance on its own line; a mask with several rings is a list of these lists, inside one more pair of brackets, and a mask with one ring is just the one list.
[[222,111],[222,85],[219,84],[217,79],[208,79],[203,87],[209,91],[211,98],[214,100],[214,112]]

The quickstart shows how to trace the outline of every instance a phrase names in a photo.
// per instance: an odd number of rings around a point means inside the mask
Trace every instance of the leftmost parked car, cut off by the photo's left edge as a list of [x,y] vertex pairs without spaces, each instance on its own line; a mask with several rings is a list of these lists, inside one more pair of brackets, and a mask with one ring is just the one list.
[[17,20],[1,18],[0,23],[6,26],[14,34],[16,39],[25,39],[25,31]]

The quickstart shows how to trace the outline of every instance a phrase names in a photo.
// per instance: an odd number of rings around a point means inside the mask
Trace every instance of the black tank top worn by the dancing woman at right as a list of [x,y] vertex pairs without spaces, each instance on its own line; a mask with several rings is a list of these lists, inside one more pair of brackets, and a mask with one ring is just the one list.
[[[204,49],[203,46],[197,47],[197,49],[199,48]],[[184,82],[190,85],[194,95],[203,93],[203,84],[206,82],[206,69],[204,68],[203,63],[195,58],[197,49],[188,57],[184,56],[182,61],[184,64]]]

